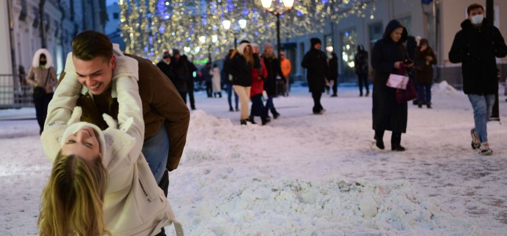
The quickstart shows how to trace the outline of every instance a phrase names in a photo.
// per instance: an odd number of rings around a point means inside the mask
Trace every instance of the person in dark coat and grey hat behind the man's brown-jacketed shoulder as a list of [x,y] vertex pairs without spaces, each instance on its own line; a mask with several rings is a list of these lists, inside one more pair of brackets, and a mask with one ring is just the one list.
[[172,84],[176,87],[179,95],[182,97],[185,104],[187,104],[187,81],[189,77],[188,60],[179,54],[179,50],[172,50],[171,68],[174,76],[171,78]]

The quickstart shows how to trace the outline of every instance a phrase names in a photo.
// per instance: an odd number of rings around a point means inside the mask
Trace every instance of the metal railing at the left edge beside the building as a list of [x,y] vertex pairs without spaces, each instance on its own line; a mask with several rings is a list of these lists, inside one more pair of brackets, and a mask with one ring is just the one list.
[[32,93],[24,74],[0,74],[0,109],[33,107]]

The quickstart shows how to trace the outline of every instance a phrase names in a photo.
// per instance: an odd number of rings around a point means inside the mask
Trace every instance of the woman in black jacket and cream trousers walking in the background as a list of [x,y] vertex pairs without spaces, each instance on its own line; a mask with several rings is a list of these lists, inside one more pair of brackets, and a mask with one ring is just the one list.
[[243,40],[238,49],[231,54],[229,73],[232,74],[234,91],[238,94],[241,105],[240,124],[246,125],[249,118],[248,100],[250,98],[250,87],[252,83],[251,70],[255,65],[253,61],[250,42]]

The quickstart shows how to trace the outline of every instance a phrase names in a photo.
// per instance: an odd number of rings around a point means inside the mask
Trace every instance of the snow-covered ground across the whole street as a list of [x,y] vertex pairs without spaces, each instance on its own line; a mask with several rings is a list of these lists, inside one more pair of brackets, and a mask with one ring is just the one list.
[[[357,95],[339,88],[338,98],[322,98],[328,111],[313,115],[307,88],[294,88],[274,101],[280,118],[262,127],[239,126],[227,98],[197,93],[200,110],[169,177],[169,200],[186,234],[505,235],[504,125],[488,124],[494,154],[479,155],[470,148],[468,99],[435,86],[433,109],[409,105],[407,151],[388,150],[390,132],[379,150],[371,97]],[[37,233],[51,168],[38,131],[35,120],[0,122],[0,235]]]

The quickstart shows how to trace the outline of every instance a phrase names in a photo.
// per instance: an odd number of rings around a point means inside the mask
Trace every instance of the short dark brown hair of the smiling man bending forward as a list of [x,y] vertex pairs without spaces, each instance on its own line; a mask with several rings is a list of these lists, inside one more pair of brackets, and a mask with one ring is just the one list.
[[74,37],[72,52],[75,57],[84,61],[97,56],[109,60],[113,56],[113,44],[107,35],[94,30],[85,30]]

